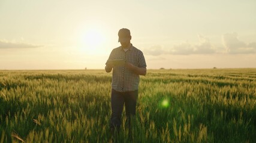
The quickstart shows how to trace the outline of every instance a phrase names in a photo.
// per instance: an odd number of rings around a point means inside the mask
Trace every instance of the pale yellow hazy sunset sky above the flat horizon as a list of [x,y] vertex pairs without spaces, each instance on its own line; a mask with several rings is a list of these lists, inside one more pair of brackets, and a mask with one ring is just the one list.
[[0,70],[104,69],[128,28],[147,69],[256,68],[255,0],[0,0]]

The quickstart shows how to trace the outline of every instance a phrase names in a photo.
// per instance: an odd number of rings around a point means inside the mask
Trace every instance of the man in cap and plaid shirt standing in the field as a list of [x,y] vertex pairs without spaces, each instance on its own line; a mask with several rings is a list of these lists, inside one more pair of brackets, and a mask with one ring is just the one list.
[[[140,75],[146,75],[147,71],[143,52],[132,45],[129,29],[120,29],[118,36],[121,46],[112,50],[105,67],[107,73],[113,69],[110,120],[112,132],[120,129],[124,104],[128,126],[131,125],[131,116],[135,116]],[[124,60],[125,64],[115,66],[111,60]]]

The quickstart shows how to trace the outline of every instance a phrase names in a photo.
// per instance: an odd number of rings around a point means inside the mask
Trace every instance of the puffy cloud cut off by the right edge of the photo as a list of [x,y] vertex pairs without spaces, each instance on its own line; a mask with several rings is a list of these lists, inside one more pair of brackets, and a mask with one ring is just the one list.
[[226,52],[230,54],[251,54],[256,52],[256,42],[245,43],[240,41],[237,33],[226,33],[222,35],[222,43]]

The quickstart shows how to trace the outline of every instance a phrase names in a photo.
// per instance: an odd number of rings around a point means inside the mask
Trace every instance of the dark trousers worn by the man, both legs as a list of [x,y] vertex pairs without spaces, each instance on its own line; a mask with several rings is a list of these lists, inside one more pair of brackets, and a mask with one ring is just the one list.
[[110,120],[111,129],[120,129],[122,111],[125,104],[125,113],[127,116],[128,126],[131,125],[131,116],[135,116],[135,108],[138,98],[138,90],[128,92],[118,92],[112,89],[111,108],[112,115]]

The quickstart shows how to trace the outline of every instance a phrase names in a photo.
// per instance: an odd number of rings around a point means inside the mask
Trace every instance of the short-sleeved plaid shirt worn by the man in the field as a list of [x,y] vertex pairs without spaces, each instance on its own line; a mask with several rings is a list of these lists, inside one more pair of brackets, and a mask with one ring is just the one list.
[[[122,49],[122,46],[113,49],[109,56],[109,60],[125,60],[125,63],[131,63],[137,67],[147,66],[143,52],[132,45],[126,52]],[[115,91],[135,91],[138,89],[139,82],[140,76],[127,69],[127,67],[113,67],[112,88],[115,89]]]

